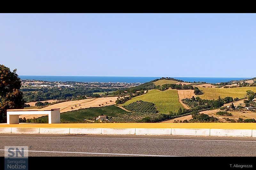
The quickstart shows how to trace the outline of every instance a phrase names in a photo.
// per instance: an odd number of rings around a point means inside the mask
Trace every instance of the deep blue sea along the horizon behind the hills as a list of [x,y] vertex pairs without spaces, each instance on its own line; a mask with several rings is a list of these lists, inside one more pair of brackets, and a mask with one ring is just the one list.
[[[161,77],[104,77],[104,76],[19,76],[25,80],[41,81],[76,81],[76,82],[125,82],[125,83],[146,83]],[[220,83],[231,80],[244,80],[250,78],[209,78],[209,77],[172,77],[188,82]]]

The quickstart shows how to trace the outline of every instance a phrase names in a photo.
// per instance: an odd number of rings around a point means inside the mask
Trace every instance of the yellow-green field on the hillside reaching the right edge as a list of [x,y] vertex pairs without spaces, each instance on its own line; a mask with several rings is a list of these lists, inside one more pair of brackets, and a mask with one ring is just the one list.
[[256,87],[237,87],[237,88],[207,88],[207,87],[198,87],[204,94],[196,95],[202,99],[218,99],[224,97],[233,97],[233,98],[244,98],[246,96],[246,90],[251,90],[256,92]]

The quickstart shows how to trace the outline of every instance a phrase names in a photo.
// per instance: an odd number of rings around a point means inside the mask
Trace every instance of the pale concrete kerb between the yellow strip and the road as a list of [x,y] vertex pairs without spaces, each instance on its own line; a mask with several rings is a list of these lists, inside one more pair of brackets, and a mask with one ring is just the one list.
[[256,137],[256,129],[189,128],[0,128],[6,134],[107,134]]

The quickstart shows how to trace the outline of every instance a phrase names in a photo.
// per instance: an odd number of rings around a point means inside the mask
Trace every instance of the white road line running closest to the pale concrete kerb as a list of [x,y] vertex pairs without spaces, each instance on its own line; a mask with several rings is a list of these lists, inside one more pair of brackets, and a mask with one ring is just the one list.
[[[24,136],[0,136],[0,137],[24,137]],[[25,137],[24,137],[25,138]],[[210,140],[210,139],[163,139],[163,138],[128,138],[128,137],[28,137],[28,138],[76,138],[76,139],[140,139],[140,140],[184,140],[184,141],[218,141],[218,142],[256,142],[245,140]]]

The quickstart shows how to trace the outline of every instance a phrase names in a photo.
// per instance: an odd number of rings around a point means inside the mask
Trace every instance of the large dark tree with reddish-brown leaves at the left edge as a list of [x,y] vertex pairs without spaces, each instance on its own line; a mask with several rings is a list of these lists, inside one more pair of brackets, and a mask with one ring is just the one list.
[[7,122],[7,109],[24,107],[23,93],[20,92],[21,81],[16,71],[0,64],[0,123]]

